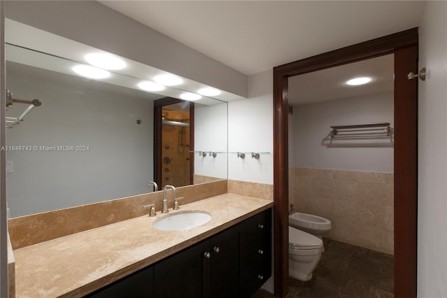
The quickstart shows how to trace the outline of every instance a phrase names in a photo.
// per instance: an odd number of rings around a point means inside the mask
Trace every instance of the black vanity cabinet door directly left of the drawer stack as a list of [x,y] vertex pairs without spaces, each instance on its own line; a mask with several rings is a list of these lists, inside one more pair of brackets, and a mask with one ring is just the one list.
[[210,239],[210,297],[239,297],[239,225]]

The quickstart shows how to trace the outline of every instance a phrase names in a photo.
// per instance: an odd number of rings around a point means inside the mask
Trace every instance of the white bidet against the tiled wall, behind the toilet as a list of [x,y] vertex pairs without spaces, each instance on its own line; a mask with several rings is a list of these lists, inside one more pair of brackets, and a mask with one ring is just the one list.
[[320,236],[332,229],[330,220],[317,215],[295,212],[288,215],[288,225],[308,232],[312,235]]

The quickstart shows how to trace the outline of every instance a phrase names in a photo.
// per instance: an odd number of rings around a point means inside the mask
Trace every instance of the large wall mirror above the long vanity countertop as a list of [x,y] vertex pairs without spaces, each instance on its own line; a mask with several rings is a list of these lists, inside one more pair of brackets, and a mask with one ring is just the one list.
[[[23,36],[24,29],[30,28],[6,21],[6,87],[13,99],[6,113],[10,216],[152,191],[147,183],[155,180],[154,101],[181,99],[183,90],[140,89],[138,83],[149,75],[142,76],[145,66],[129,60],[126,64],[131,68],[126,71],[111,70],[105,79],[85,78],[73,72],[73,67],[87,62],[73,55],[43,52],[37,43],[36,48],[21,44],[20,38],[32,39]],[[66,51],[73,53],[74,48]],[[41,104],[17,120],[33,105],[27,102],[33,99]],[[182,99],[163,107],[167,109],[165,120],[177,122],[170,123],[168,131],[179,144],[169,148],[192,163],[188,169],[171,171],[184,175],[193,169],[193,177],[183,179],[183,185],[226,179],[227,103],[202,97],[193,101],[194,117],[189,118],[182,111],[189,102]],[[194,127],[191,138],[186,135],[189,125]],[[212,156],[212,152],[217,154]]]

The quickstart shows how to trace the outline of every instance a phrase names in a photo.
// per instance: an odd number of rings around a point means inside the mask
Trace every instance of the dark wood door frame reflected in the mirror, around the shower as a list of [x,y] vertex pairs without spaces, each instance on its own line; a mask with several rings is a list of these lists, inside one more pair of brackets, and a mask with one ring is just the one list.
[[[161,187],[161,171],[163,163],[161,161],[161,151],[163,144],[161,143],[161,118],[163,106],[170,104],[178,104],[184,102],[182,99],[175,99],[173,97],[164,97],[162,99],[154,100],[154,181]],[[189,101],[189,151],[194,150],[194,103]],[[194,153],[189,152],[189,185],[193,185],[194,181]]]

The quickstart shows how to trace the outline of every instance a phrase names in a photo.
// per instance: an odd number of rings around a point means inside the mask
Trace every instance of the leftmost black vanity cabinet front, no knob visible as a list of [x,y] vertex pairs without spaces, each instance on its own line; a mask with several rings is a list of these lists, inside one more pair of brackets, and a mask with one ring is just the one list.
[[92,298],[152,298],[154,297],[154,267],[126,276],[112,285],[94,292]]

